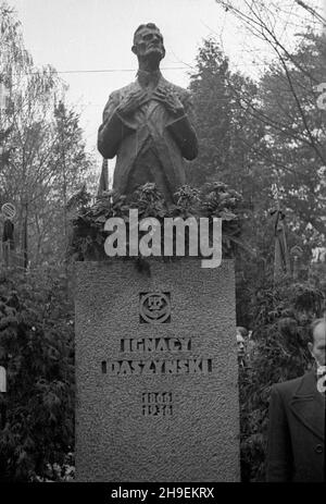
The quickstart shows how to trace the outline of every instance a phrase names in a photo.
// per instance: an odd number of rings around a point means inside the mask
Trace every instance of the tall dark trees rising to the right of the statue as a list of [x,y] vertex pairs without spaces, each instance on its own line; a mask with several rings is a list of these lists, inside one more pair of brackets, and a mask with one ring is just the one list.
[[[260,82],[230,70],[213,38],[191,75],[199,157],[188,183],[218,180],[242,196],[242,247],[236,256],[237,323],[252,327],[251,292],[273,272],[273,211],[286,216],[288,249],[300,247],[308,278],[314,247],[325,243],[325,121],[315,85],[325,41],[310,32]],[[324,78],[325,81],[325,78]]]

